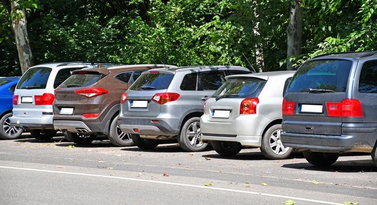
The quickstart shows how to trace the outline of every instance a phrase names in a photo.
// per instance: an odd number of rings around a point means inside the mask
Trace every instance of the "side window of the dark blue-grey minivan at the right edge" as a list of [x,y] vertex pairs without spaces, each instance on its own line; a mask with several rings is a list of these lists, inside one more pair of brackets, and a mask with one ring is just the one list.
[[360,93],[377,93],[377,61],[365,62],[359,78]]

